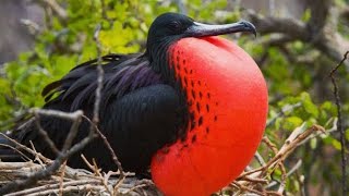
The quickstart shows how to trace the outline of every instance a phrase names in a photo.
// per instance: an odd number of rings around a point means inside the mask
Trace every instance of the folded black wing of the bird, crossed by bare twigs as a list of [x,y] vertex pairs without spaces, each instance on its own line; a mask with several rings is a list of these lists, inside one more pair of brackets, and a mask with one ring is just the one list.
[[[139,57],[116,59],[103,65],[105,75],[99,128],[127,170],[144,171],[156,150],[174,142],[179,132],[184,130],[188,113],[184,99],[171,86],[163,84],[146,60]],[[45,108],[62,111],[82,109],[85,115],[92,118],[97,76],[96,61],[73,69],[62,79],[44,89],[44,96],[58,94],[49,98]],[[40,124],[60,148],[72,122],[40,117]],[[88,130],[88,122],[83,121],[75,142],[84,138]],[[37,151],[55,157],[43,142],[35,123],[14,135],[21,143],[31,145],[32,140]],[[115,169],[100,139],[94,140],[82,152],[87,158],[95,158],[105,170]],[[85,166],[79,155],[72,157],[70,163],[72,167]]]

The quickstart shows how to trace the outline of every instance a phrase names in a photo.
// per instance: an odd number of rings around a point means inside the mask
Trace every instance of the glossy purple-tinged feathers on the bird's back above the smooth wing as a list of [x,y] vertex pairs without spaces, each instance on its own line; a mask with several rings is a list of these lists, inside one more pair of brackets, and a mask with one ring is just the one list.
[[[110,98],[119,99],[129,91],[161,83],[160,76],[148,63],[147,59],[140,54],[103,57],[101,102],[107,103]],[[43,90],[47,101],[45,108],[50,108],[53,102],[65,102],[70,105],[70,111],[74,111],[94,102],[98,86],[97,64],[97,60],[85,62],[71,70],[60,81],[47,85]]]

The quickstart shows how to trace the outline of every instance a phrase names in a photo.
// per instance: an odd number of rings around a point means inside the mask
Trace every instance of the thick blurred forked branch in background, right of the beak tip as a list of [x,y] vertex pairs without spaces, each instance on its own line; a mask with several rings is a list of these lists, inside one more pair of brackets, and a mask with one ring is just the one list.
[[[349,48],[349,41],[328,22],[327,16],[330,5],[332,0],[325,0],[324,2],[320,0],[316,0],[316,2],[309,1],[309,8],[311,9],[309,23],[296,19],[263,17],[252,10],[246,10],[245,13],[262,35],[281,34],[285,38],[276,40],[277,44],[293,40],[310,42],[329,59],[340,61],[341,54]],[[349,68],[349,62],[346,65]]]

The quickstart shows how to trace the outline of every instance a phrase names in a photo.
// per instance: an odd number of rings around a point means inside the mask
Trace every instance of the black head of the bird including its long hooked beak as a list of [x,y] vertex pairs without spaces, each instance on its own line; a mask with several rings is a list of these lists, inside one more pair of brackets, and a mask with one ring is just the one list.
[[[191,17],[179,13],[164,13],[152,24],[146,42],[146,54],[151,61],[165,56],[168,47],[174,41],[185,37],[208,37],[238,32],[248,32],[256,35],[253,24],[240,21],[224,25],[209,25],[195,22]],[[161,70],[160,64],[154,63],[155,70]]]

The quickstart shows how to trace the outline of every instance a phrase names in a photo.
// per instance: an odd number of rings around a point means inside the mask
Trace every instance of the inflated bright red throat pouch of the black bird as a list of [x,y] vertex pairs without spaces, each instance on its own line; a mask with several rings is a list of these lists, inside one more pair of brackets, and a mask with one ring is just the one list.
[[256,151],[267,117],[267,87],[253,59],[227,39],[183,38],[170,52],[195,125],[185,142],[153,157],[152,176],[167,196],[209,195],[232,182]]

